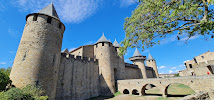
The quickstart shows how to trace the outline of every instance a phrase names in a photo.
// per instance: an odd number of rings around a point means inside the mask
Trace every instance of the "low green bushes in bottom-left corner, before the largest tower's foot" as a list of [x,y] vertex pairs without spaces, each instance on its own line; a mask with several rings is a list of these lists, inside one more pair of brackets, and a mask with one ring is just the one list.
[[41,96],[43,91],[35,86],[28,85],[24,88],[11,88],[0,92],[0,100],[47,100],[47,96]]

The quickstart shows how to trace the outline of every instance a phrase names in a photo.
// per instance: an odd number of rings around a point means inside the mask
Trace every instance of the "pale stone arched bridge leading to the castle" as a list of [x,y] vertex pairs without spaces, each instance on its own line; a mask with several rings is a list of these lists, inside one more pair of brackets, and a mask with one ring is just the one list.
[[124,94],[145,95],[148,84],[155,85],[162,92],[162,96],[167,96],[167,89],[171,84],[181,83],[189,86],[196,93],[200,91],[210,91],[214,89],[214,75],[176,77],[176,78],[150,78],[150,79],[130,79],[118,80],[118,91]]

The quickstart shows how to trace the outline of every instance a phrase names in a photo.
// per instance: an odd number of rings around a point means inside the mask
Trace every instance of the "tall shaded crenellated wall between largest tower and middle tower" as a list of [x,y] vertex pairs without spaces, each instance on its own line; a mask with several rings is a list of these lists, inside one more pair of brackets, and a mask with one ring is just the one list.
[[57,100],[84,100],[99,96],[98,61],[62,53]]

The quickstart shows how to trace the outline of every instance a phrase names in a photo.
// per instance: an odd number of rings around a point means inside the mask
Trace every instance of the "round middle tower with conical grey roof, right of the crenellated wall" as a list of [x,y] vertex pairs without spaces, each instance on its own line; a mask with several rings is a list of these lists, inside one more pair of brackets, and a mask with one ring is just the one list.
[[112,96],[115,93],[113,45],[104,34],[94,45],[94,56],[98,59],[100,75],[100,94]]

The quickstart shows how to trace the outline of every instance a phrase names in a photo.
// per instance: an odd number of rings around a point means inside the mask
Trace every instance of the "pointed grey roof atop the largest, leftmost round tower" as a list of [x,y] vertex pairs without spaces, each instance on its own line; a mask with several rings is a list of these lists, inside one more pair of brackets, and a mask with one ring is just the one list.
[[39,13],[41,14],[46,14],[55,18],[59,19],[59,16],[56,12],[56,9],[54,8],[53,3],[51,3],[50,5],[48,5],[47,7],[45,7],[44,9],[42,9],[41,11],[39,11]]

